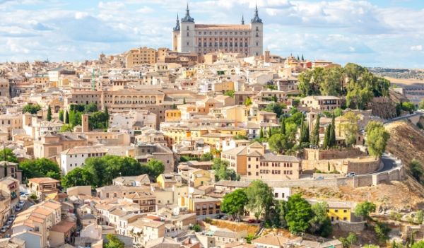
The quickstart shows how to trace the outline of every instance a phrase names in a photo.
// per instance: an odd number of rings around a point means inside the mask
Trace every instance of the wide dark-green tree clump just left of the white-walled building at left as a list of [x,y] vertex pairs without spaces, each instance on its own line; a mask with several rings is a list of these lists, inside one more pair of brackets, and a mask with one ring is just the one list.
[[60,173],[59,165],[47,158],[23,160],[19,164],[19,169],[22,170],[24,181],[34,177],[47,177],[49,172],[56,172],[56,174],[50,173],[49,176],[53,177],[57,177]]

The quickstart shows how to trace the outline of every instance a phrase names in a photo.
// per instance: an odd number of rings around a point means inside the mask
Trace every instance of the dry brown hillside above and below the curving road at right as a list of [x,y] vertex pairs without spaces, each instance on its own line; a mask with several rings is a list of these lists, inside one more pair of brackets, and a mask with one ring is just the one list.
[[[424,133],[416,126],[407,122],[394,122],[387,126],[390,133],[387,151],[400,158],[406,165],[416,159],[424,165]],[[390,182],[379,184],[374,187],[351,187],[334,188],[297,188],[294,192],[300,192],[307,198],[316,197],[323,200],[345,201],[372,201],[384,208],[423,208],[424,187],[416,182],[407,173],[402,182]]]

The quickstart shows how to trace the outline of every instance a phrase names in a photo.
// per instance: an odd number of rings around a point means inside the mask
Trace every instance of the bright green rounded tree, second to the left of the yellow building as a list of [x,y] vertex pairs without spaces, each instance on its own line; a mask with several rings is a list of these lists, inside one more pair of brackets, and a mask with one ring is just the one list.
[[310,228],[309,222],[313,214],[310,203],[303,199],[300,194],[293,194],[288,198],[285,220],[290,232],[294,234],[305,232]]

